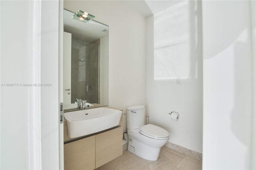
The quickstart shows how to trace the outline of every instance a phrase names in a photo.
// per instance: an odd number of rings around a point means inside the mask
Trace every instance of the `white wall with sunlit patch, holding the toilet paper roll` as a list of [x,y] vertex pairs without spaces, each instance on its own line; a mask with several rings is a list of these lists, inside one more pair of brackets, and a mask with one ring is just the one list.
[[[202,153],[202,16],[198,3],[181,2],[147,18],[146,103],[149,122],[165,128],[169,142]],[[181,84],[176,84],[176,77],[181,77]],[[170,119],[171,111],[180,113],[178,121]]]

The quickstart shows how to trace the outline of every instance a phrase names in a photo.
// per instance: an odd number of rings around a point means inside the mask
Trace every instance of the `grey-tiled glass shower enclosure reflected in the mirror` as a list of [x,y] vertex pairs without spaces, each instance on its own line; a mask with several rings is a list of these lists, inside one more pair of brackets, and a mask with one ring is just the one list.
[[71,103],[77,99],[99,103],[100,41],[88,43],[72,39]]

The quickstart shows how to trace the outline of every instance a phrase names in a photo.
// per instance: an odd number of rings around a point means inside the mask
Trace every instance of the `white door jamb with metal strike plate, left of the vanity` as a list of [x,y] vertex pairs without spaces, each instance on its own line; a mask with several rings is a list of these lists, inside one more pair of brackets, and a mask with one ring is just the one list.
[[[25,1],[24,1],[25,2]],[[29,1],[33,2],[33,1]],[[38,2],[38,1],[36,1]],[[39,1],[41,6],[41,83],[51,83],[51,86],[41,87],[41,149],[42,168],[40,169],[61,169],[63,162],[60,157],[63,138],[59,134],[63,133],[63,123],[60,124],[59,117],[59,58],[62,58],[60,51],[59,24],[61,12],[63,10],[62,1]],[[62,7],[61,7],[62,6]],[[37,13],[37,11],[35,11]],[[63,13],[63,12],[62,12]],[[33,14],[33,13],[31,13]]]

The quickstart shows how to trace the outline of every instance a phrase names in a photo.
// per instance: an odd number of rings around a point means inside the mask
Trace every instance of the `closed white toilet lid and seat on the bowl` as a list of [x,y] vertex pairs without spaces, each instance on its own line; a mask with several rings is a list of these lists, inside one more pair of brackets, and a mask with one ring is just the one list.
[[151,124],[140,127],[140,134],[143,134],[145,136],[148,136],[154,139],[160,139],[160,140],[169,139],[169,133],[166,130]]

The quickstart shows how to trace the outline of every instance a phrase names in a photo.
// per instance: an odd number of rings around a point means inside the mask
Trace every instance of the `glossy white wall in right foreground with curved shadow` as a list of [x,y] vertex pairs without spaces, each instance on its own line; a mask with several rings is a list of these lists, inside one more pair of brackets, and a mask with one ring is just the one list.
[[203,169],[255,167],[250,10],[250,1],[202,2]]

